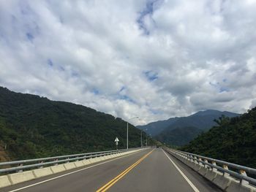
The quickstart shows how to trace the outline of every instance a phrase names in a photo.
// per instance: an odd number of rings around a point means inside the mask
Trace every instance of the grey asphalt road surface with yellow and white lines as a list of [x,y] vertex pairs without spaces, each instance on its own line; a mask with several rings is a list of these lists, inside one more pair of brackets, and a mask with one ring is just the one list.
[[160,148],[90,164],[0,191],[221,191]]

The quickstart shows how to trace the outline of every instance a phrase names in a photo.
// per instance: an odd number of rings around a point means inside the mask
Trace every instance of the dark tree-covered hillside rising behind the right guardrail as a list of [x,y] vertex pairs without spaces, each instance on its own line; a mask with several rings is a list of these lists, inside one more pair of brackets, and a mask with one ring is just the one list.
[[217,124],[180,150],[256,168],[256,107]]

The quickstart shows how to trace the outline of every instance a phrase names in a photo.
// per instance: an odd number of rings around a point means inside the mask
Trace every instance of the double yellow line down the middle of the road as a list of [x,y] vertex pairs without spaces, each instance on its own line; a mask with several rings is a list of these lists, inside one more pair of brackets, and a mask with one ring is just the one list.
[[112,185],[114,185],[116,182],[118,182],[118,180],[121,179],[121,177],[124,177],[125,174],[127,174],[129,171],[131,171],[133,168],[135,168],[135,166],[137,166],[138,164],[140,164],[141,161],[143,161],[144,158],[146,158],[150,153],[152,153],[153,150],[151,150],[151,152],[147,153],[146,155],[144,155],[142,158],[140,158],[138,161],[136,161],[135,164],[132,164],[131,166],[129,166],[127,169],[124,170],[124,172],[121,172],[121,174],[118,174],[118,176],[116,176],[115,178],[113,178],[113,180],[110,180],[110,182],[106,183],[104,186],[102,186],[102,188],[99,188],[96,192],[104,192],[107,191]]

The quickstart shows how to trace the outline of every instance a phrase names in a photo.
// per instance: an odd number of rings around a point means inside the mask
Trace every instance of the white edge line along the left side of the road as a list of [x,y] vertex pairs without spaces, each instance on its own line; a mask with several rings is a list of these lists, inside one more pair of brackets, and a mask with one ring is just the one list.
[[[141,151],[141,150],[140,150],[140,151]],[[139,153],[140,151],[135,152],[135,153]],[[129,154],[129,155],[133,155],[133,154],[135,154],[135,153],[131,153],[131,154]],[[46,182],[51,181],[51,180],[56,180],[56,179],[59,179],[60,177],[67,176],[67,175],[69,175],[69,174],[74,174],[74,173],[76,173],[76,172],[81,172],[81,171],[83,171],[83,170],[90,169],[90,168],[92,168],[92,167],[94,167],[94,166],[99,166],[99,165],[102,165],[102,164],[106,164],[106,163],[108,163],[108,162],[110,162],[110,161],[115,161],[115,160],[117,160],[117,159],[119,159],[119,158],[124,158],[124,157],[127,157],[127,156],[129,156],[129,155],[124,155],[124,156],[121,156],[121,157],[118,157],[118,158],[111,159],[111,160],[109,160],[109,161],[104,161],[104,162],[102,162],[102,163],[95,164],[95,165],[93,165],[93,166],[88,166],[88,167],[86,167],[86,168],[79,169],[79,170],[74,171],[74,172],[69,172],[69,173],[67,173],[67,174],[61,174],[61,175],[58,176],[58,177],[53,177],[53,178],[50,178],[50,179],[48,179],[48,180],[43,180],[43,181],[41,181],[41,182],[34,183],[34,184],[31,184],[31,185],[27,185],[27,186],[25,186],[25,187],[23,187],[23,188],[17,188],[17,189],[15,189],[15,190],[8,191],[8,192],[15,192],[15,191],[23,190],[23,189],[25,189],[25,188],[30,188],[30,187],[33,187],[34,185],[39,185],[39,184],[46,183]]]

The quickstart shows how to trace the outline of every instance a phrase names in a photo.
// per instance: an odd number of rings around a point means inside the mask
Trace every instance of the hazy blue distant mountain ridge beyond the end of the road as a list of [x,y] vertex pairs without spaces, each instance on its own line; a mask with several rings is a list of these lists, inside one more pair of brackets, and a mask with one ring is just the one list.
[[[185,145],[201,132],[207,131],[213,126],[217,126],[214,119],[218,119],[222,115],[228,118],[239,116],[239,114],[234,112],[206,110],[196,112],[187,117],[170,118],[168,120],[161,120],[148,123],[146,126],[137,127],[151,134],[151,136],[155,137],[160,142],[165,142],[169,145]],[[173,137],[174,135],[176,137]]]

